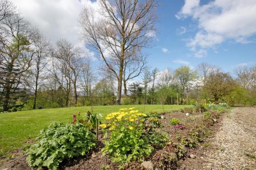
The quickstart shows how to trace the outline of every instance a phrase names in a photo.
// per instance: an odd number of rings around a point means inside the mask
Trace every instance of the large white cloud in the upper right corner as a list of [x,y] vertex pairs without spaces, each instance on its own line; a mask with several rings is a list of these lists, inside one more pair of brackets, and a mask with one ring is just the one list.
[[200,0],[186,0],[176,17],[189,16],[199,28],[196,36],[187,43],[190,50],[211,48],[226,40],[248,43],[248,38],[256,33],[254,0],[215,0],[204,5],[200,5]]

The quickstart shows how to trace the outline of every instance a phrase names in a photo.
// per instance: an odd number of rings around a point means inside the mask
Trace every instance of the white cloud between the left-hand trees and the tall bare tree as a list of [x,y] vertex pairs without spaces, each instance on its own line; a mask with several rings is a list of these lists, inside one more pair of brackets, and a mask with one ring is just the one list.
[[99,2],[90,0],[11,0],[25,19],[55,43],[65,38],[78,45],[78,16],[83,7],[97,9]]

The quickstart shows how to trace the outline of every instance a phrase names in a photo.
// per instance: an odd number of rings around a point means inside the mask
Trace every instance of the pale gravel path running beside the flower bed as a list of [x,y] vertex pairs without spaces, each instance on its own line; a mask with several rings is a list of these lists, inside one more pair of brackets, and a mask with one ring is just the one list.
[[205,153],[204,169],[256,169],[256,108],[234,108]]

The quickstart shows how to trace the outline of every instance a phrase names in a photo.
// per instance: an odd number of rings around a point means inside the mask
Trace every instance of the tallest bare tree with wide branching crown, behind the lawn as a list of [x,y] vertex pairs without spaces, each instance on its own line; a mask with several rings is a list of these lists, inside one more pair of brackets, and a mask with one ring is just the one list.
[[79,23],[82,37],[95,51],[118,81],[117,104],[120,104],[123,69],[136,48],[145,47],[152,39],[156,21],[155,0],[100,0],[100,17],[96,11],[84,8]]

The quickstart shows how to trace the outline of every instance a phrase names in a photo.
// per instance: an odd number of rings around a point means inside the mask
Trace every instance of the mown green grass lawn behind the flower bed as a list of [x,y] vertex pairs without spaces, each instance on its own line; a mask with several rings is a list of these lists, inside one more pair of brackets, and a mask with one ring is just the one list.
[[[101,113],[104,117],[120,108],[130,107],[135,107],[140,112],[144,110],[143,105],[95,106],[94,112]],[[185,106],[164,105],[164,111],[178,110],[183,107]],[[24,147],[26,140],[34,138],[39,130],[47,127],[50,123],[70,123],[73,120],[72,114],[77,114],[80,111],[81,116],[84,117],[88,110],[91,110],[90,106],[0,113],[0,155]],[[162,112],[162,105],[145,106],[145,112],[151,110]]]

